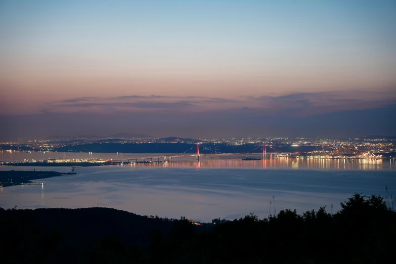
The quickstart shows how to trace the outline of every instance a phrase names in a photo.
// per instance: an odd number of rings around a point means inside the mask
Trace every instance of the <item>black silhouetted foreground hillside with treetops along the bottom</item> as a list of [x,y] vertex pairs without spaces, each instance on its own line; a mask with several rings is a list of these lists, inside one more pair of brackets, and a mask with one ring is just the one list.
[[[393,200],[394,202],[394,200]],[[0,209],[2,263],[381,263],[394,258],[396,212],[355,194],[341,211],[194,226],[109,208]]]

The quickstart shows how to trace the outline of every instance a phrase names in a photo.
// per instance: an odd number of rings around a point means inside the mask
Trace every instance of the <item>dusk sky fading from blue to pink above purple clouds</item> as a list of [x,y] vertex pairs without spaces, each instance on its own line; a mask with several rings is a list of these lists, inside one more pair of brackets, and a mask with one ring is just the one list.
[[396,2],[0,0],[0,140],[396,135]]

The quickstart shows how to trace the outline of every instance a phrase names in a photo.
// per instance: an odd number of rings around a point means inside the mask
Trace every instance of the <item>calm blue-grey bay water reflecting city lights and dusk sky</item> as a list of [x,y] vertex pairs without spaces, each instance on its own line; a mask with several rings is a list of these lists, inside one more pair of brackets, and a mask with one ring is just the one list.
[[[0,160],[23,160],[24,155],[79,158],[88,153],[5,153]],[[8,155],[8,156],[7,156]],[[80,155],[80,156],[78,156]],[[117,154],[93,154],[113,158]],[[118,154],[141,157],[147,154]],[[37,157],[28,157],[38,159]],[[179,160],[179,161],[177,161]],[[0,167],[1,170],[33,167]],[[69,171],[69,167],[35,167]],[[265,217],[295,208],[299,213],[326,205],[340,209],[340,201],[355,192],[396,195],[393,160],[332,160],[267,157],[242,161],[235,156],[178,158],[169,163],[138,166],[77,167],[75,175],[43,180],[44,186],[1,189],[0,207],[113,207],[142,215],[180,217],[208,222],[214,217],[234,219],[254,212]],[[271,204],[270,204],[271,201]],[[333,205],[333,208],[331,208]]]

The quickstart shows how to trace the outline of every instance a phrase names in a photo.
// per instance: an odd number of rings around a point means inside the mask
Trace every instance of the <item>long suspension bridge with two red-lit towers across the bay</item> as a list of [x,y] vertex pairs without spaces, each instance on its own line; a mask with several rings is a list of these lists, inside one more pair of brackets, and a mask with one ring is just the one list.
[[[272,149],[272,151],[267,152],[267,147]],[[194,148],[196,148],[196,153],[191,154],[188,153],[192,151]],[[209,153],[210,152],[210,153]],[[263,143],[260,146],[257,146],[249,151],[245,152],[239,152],[239,153],[224,153],[220,152],[218,150],[213,150],[211,148],[205,147],[204,144],[197,143],[196,146],[186,150],[183,153],[177,154],[177,155],[159,155],[159,156],[147,156],[147,157],[131,157],[131,158],[122,158],[122,159],[117,159],[117,160],[106,160],[107,162],[163,162],[163,161],[171,161],[172,158],[177,158],[177,157],[196,157],[197,160],[200,160],[200,157],[202,156],[221,156],[221,155],[263,155],[265,157],[266,155],[281,155],[281,156],[293,156],[298,154],[298,152],[282,152],[280,150],[275,149],[272,146],[267,146],[266,143]]]

